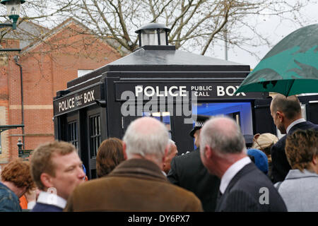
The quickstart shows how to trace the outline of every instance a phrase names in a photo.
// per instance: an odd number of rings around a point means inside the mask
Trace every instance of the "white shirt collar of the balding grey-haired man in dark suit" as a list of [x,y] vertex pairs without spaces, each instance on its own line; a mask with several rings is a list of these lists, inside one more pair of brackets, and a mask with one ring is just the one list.
[[250,162],[252,161],[248,156],[243,157],[225,171],[225,174],[223,174],[223,177],[220,181],[220,192],[222,194],[224,194],[225,189],[228,187],[228,184],[230,184],[230,181],[237,174],[237,172],[239,172],[243,167],[245,167],[245,165],[249,164]]

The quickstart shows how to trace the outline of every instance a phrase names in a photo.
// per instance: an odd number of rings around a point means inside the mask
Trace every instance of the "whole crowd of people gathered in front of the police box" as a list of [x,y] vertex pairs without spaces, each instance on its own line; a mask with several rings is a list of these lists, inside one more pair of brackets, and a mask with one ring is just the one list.
[[277,94],[270,110],[283,138],[256,134],[247,148],[233,119],[199,117],[183,155],[163,123],[136,119],[100,144],[98,179],[70,143],[42,144],[2,169],[0,211],[318,211],[318,126],[296,96]]

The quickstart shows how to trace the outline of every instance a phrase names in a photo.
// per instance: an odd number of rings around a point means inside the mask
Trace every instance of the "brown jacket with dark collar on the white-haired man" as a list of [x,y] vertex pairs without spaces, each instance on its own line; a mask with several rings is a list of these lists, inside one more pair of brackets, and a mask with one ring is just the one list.
[[192,192],[170,184],[155,163],[131,159],[76,187],[64,210],[181,212],[202,211],[202,206]]

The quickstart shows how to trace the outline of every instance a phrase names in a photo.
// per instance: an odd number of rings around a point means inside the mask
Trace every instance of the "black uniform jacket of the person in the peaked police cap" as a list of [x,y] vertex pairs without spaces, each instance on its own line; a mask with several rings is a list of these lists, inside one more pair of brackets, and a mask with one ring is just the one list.
[[200,199],[204,211],[215,210],[220,179],[208,173],[201,162],[199,148],[174,157],[167,179],[172,184],[192,191]]

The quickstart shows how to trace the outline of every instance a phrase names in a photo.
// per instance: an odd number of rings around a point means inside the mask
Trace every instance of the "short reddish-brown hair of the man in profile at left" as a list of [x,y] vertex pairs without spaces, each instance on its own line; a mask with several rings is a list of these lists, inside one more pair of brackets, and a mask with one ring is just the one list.
[[47,173],[55,177],[55,165],[51,161],[53,155],[68,155],[76,152],[71,143],[65,141],[52,141],[38,146],[31,156],[31,174],[38,189],[44,190],[41,182],[41,174]]

